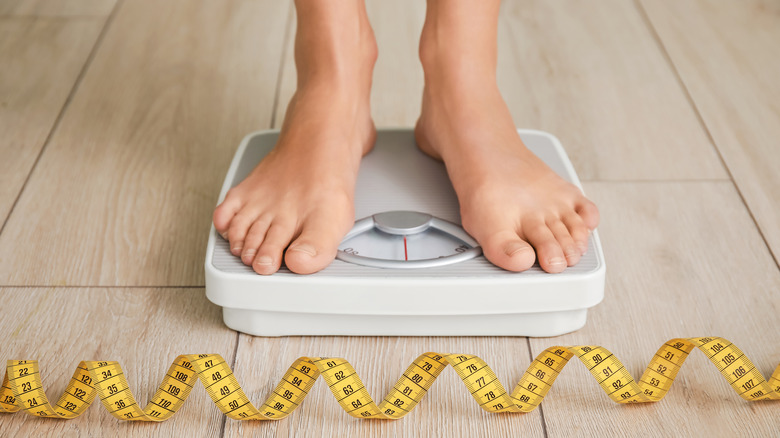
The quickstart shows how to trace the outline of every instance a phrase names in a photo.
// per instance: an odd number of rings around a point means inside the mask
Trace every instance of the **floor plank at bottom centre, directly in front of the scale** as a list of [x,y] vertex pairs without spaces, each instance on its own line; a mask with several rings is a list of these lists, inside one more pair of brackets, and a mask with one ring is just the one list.
[[[525,338],[291,337],[241,335],[235,373],[256,405],[300,356],[347,359],[375,401],[381,401],[418,355],[468,352],[484,359],[507,389],[530,364]],[[250,386],[251,385],[251,386]],[[454,371],[445,370],[423,401],[398,421],[361,421],[348,416],[323,382],[297,412],[276,423],[229,421],[225,436],[543,436],[540,412],[488,414],[479,408]]]

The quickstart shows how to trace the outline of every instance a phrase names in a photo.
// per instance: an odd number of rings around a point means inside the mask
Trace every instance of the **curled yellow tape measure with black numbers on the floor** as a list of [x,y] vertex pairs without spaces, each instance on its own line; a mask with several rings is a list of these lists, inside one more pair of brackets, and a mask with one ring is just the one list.
[[133,395],[118,362],[83,361],[60,400],[46,398],[38,362],[10,360],[0,391],[0,412],[24,410],[38,417],[71,419],[100,396],[114,417],[130,421],[164,421],[184,404],[196,376],[217,407],[235,420],[279,420],[300,405],[321,375],[341,407],[357,418],[398,419],[414,409],[436,377],[448,366],[458,373],[479,406],[488,412],[530,412],[536,409],[568,361],[576,356],[609,398],[618,403],[661,400],[672,386],[688,354],[696,347],[720,370],[745,400],[780,400],[780,365],[766,381],[750,359],[731,342],[717,337],[672,339],[656,352],[647,370],[634,380],[622,363],[598,346],[550,347],[526,370],[512,393],[479,357],[425,353],[403,373],[390,394],[375,403],[355,369],[344,359],[301,357],[287,370],[270,397],[255,407],[218,354],[176,358],[145,408]]

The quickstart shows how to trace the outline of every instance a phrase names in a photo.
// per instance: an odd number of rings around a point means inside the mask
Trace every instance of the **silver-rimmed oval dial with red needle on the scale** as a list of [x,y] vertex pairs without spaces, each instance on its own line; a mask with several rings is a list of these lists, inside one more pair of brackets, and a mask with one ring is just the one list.
[[336,258],[375,268],[430,268],[472,259],[479,244],[452,222],[416,211],[388,211],[355,222]]

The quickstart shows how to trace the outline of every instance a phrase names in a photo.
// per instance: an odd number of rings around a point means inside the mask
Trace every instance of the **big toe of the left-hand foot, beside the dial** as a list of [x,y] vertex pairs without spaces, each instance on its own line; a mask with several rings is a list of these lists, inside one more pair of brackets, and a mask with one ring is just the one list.
[[284,255],[287,268],[298,274],[311,274],[328,266],[336,258],[339,242],[348,231],[348,227],[335,221],[323,220],[326,216],[315,217],[317,220],[304,222],[300,236]]

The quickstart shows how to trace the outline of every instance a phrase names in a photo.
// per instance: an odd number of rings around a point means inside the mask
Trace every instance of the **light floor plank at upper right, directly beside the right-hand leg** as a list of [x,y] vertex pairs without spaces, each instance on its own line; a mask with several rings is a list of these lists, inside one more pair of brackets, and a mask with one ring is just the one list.
[[631,2],[504,2],[499,42],[516,124],[558,136],[580,179],[727,178]]

